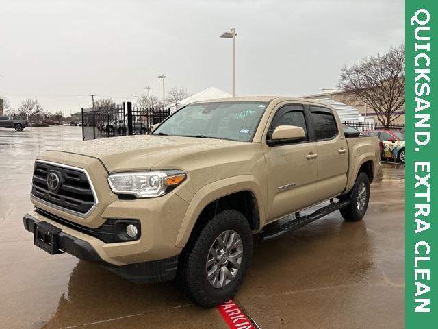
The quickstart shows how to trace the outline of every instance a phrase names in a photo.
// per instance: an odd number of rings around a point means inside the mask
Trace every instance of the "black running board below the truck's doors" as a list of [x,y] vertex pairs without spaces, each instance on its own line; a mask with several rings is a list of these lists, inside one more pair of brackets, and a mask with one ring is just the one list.
[[286,232],[296,230],[297,228],[301,228],[302,226],[305,226],[312,221],[315,221],[317,219],[320,219],[321,217],[324,217],[326,215],[329,215],[331,212],[335,212],[336,210],[339,210],[340,208],[344,208],[350,204],[350,200],[343,200],[339,201],[337,203],[331,203],[328,206],[324,206],[315,212],[313,212],[310,215],[307,216],[300,216],[299,212],[296,214],[296,219],[292,219],[291,221],[287,221],[284,224],[281,224],[278,228],[275,228],[274,230],[270,230],[269,232],[265,232],[264,230],[259,233],[259,236],[262,241],[266,240],[272,240],[275,238],[278,238],[279,236],[285,234]]

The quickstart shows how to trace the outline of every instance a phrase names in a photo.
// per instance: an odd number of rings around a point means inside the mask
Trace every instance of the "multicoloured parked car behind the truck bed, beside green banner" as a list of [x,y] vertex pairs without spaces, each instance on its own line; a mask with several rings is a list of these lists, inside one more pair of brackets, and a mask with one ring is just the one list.
[[366,136],[378,136],[381,143],[382,158],[398,160],[404,163],[404,141],[403,132],[395,130],[370,130],[365,132]]

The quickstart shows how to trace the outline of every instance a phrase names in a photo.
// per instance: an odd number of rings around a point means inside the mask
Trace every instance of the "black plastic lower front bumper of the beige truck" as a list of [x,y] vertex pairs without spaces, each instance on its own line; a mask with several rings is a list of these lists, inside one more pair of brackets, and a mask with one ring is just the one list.
[[[35,223],[39,222],[38,219],[29,214],[23,217],[25,229],[31,233],[34,233]],[[90,243],[62,232],[62,230],[57,234],[57,247],[62,252],[71,254],[81,260],[102,265],[105,269],[136,283],[168,281],[175,278],[177,273],[178,256],[152,262],[115,266],[105,262]]]

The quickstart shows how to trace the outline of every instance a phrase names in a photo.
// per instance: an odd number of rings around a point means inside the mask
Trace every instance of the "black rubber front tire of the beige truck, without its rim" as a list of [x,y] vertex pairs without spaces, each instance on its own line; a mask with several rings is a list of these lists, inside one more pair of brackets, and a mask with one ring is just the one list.
[[[227,231],[237,232],[242,241],[242,259],[237,273],[224,287],[214,287],[207,278],[207,259],[217,238]],[[196,232],[194,232],[196,234]],[[237,210],[223,210],[212,216],[205,226],[192,236],[179,257],[179,280],[196,304],[214,307],[229,300],[242,284],[253,254],[253,235],[244,215]],[[229,258],[227,258],[228,260]],[[229,264],[231,265],[231,263]],[[222,266],[229,266],[222,265]],[[216,265],[213,265],[216,266]],[[233,265],[231,265],[233,266]],[[219,271],[217,271],[219,273]],[[218,280],[220,277],[217,277]]]

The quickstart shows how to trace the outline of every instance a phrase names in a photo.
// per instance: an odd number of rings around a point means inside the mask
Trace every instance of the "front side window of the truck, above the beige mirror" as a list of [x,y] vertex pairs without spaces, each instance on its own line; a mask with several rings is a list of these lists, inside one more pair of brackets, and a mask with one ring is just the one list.
[[270,139],[272,137],[272,132],[274,132],[275,128],[279,125],[296,125],[297,127],[302,127],[306,134],[306,137],[303,141],[309,141],[306,119],[304,116],[304,107],[302,105],[287,105],[280,108],[276,112],[274,119],[272,119],[266,139]]

